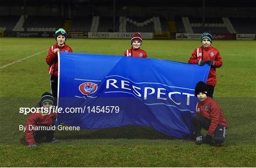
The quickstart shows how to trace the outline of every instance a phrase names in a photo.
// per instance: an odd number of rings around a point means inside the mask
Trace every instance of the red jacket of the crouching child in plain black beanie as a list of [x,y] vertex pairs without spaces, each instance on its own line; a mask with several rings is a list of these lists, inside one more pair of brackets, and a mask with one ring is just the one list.
[[210,127],[207,134],[213,134],[219,124],[226,127],[228,126],[219,104],[210,97],[196,104],[196,112],[201,114],[204,118],[210,119]]

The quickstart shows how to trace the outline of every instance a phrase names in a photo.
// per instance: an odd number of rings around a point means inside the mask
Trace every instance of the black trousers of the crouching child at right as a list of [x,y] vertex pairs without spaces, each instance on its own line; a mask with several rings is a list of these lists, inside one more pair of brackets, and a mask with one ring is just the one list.
[[[201,114],[195,114],[192,117],[192,124],[195,130],[195,136],[198,137],[198,136],[202,136],[201,128],[205,130],[209,129],[210,120],[207,118],[204,118]],[[216,144],[224,143],[225,133],[226,133],[226,127],[219,124],[213,133],[214,141]]]

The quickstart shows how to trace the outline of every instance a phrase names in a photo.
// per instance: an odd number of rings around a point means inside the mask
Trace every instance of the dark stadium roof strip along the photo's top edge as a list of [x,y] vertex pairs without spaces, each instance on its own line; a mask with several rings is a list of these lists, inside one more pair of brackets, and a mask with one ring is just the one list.
[[[204,0],[205,7],[256,7],[255,0]],[[21,5],[23,3],[60,3],[59,0],[1,0],[1,4],[5,5]],[[200,7],[203,0],[139,0],[131,3],[128,0],[62,0],[64,3],[90,3],[95,6],[112,6],[115,2],[116,6],[141,6],[141,7]]]

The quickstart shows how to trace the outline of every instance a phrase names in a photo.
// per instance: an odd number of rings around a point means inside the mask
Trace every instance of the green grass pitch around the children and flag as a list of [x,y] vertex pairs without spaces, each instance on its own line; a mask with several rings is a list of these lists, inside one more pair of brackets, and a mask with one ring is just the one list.
[[[0,38],[2,167],[256,166],[256,41],[212,43],[223,60],[223,66],[217,68],[214,91],[228,121],[226,142],[221,147],[197,146],[150,127],[123,126],[56,131],[57,144],[43,141],[36,149],[27,149],[24,133],[18,129],[27,116],[18,111],[33,107],[43,92],[50,91],[45,59],[54,43],[54,38]],[[67,44],[74,52],[110,55],[123,55],[130,48],[129,40],[68,39]],[[199,46],[200,41],[144,40],[141,48],[150,58],[187,62]]]

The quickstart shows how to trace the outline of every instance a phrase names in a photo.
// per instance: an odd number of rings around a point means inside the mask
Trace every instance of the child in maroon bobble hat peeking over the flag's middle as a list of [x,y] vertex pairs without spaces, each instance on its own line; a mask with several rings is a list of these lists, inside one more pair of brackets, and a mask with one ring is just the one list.
[[146,55],[146,51],[140,49],[140,46],[142,45],[142,38],[140,33],[133,34],[130,42],[132,48],[126,50],[124,52],[124,56],[146,59],[148,58],[148,56]]

